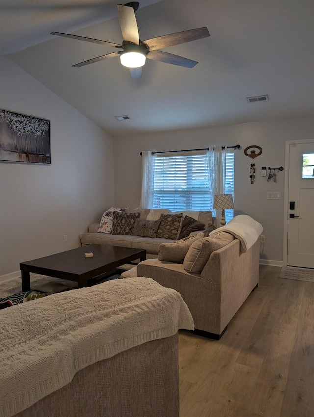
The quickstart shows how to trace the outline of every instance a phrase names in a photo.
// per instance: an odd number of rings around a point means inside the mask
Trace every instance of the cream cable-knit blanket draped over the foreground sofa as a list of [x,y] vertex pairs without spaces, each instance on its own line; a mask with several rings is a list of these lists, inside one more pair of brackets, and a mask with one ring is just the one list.
[[194,329],[181,295],[151,278],[112,280],[0,310],[0,416],[11,417],[95,362]]

